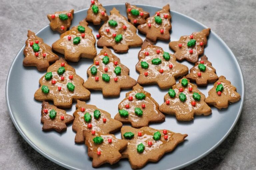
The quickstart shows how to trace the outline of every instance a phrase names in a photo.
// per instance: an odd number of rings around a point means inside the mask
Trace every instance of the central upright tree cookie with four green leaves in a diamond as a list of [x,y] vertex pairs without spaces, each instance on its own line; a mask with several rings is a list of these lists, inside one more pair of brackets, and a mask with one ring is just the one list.
[[94,58],[94,64],[87,70],[87,76],[84,87],[89,90],[102,90],[104,97],[119,96],[120,89],[130,89],[136,85],[136,80],[129,76],[129,69],[105,46]]

